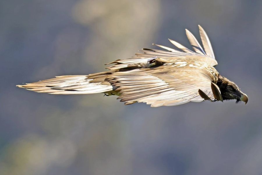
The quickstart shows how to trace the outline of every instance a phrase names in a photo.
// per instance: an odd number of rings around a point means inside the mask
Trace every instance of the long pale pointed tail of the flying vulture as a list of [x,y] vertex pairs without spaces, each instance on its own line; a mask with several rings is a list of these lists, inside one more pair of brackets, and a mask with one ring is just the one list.
[[45,92],[50,94],[93,94],[113,90],[113,86],[104,82],[93,83],[91,78],[86,75],[57,76],[48,80],[35,83],[17,85],[19,88],[35,92]]

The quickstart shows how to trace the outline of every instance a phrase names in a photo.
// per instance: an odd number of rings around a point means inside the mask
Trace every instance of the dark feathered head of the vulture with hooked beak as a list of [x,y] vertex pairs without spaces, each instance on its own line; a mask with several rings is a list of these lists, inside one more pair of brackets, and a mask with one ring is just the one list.
[[234,82],[219,75],[217,86],[219,87],[223,100],[236,99],[236,103],[238,103],[239,101],[244,101],[245,104],[247,104],[247,95],[241,92]]

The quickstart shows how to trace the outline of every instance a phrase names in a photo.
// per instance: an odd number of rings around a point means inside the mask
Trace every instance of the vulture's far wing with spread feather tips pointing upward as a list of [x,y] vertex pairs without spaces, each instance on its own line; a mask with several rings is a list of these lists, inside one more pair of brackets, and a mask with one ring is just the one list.
[[108,64],[113,64],[113,63],[116,63],[116,64],[113,66],[107,67],[107,69],[117,70],[121,68],[128,68],[132,64],[145,63],[147,62],[148,59],[152,57],[164,58],[165,60],[169,62],[174,62],[177,59],[183,57],[183,58],[188,58],[190,60],[193,59],[196,61],[205,62],[206,64],[210,66],[217,65],[217,61],[215,60],[215,56],[214,56],[213,49],[210,44],[209,38],[206,32],[204,31],[204,29],[200,25],[199,25],[199,33],[200,33],[202,44],[205,50],[201,47],[201,45],[199,44],[197,39],[194,37],[194,35],[186,29],[187,38],[190,41],[195,52],[177,43],[176,41],[169,39],[169,41],[172,44],[174,44],[177,48],[181,49],[182,51],[176,50],[173,48],[168,48],[166,46],[154,44],[155,46],[159,46],[163,49],[166,49],[167,51],[157,50],[157,49],[142,49],[141,52],[143,53],[136,53],[135,57],[132,57],[130,59],[125,59],[125,60],[116,60],[114,62],[108,63]]

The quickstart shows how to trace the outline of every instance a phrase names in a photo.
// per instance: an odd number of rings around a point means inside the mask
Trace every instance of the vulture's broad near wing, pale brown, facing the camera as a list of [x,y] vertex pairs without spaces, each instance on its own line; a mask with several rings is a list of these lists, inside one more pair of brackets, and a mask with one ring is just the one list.
[[[118,99],[125,104],[145,102],[157,107],[200,102],[204,99],[220,100],[217,97],[220,94],[219,88],[212,84],[216,78],[211,72],[200,67],[188,69],[181,65],[115,72],[109,76],[109,82],[120,90],[121,96]],[[215,93],[212,92],[211,84]],[[199,90],[204,95],[199,95]]]

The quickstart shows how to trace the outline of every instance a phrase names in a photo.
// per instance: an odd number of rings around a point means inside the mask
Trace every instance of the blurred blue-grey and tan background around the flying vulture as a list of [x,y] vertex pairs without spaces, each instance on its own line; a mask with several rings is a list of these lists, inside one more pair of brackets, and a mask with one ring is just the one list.
[[[0,1],[1,175],[262,174],[262,1]],[[247,105],[208,101],[151,108],[115,96],[15,87],[104,71],[167,38],[190,47],[197,24],[216,69]]]

